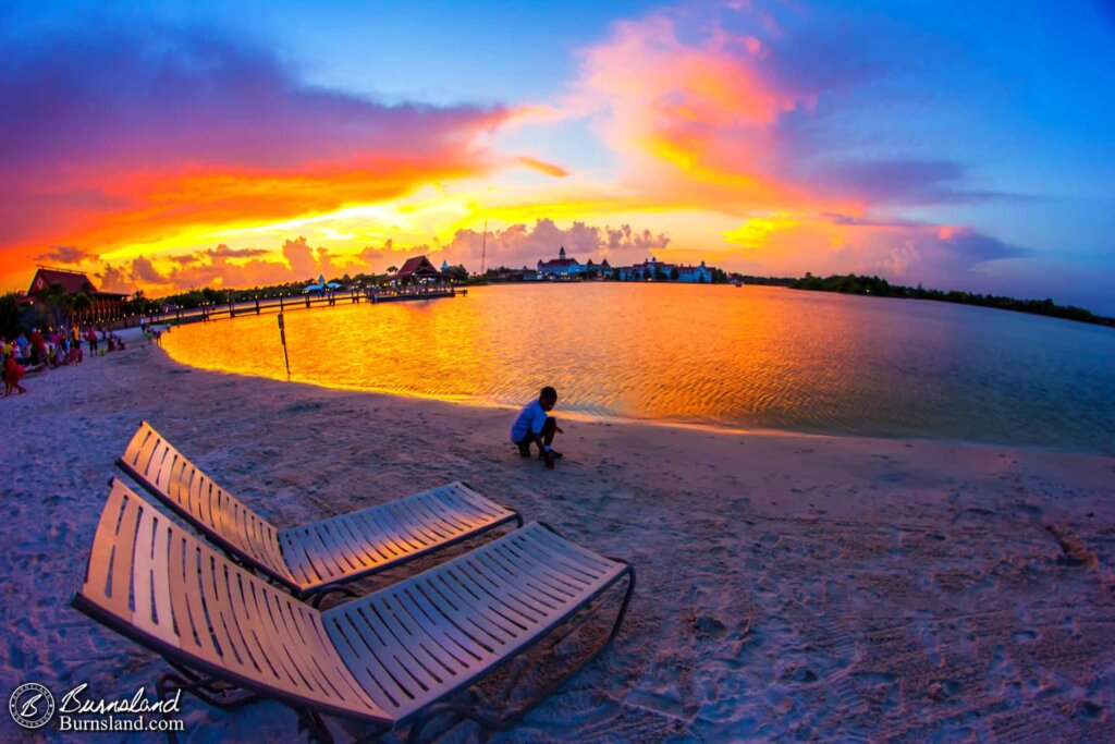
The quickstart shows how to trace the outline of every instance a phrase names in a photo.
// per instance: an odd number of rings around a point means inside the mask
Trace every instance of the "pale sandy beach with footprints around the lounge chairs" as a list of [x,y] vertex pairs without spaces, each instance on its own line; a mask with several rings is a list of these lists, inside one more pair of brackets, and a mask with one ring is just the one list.
[[[26,385],[0,402],[8,690],[124,695],[164,670],[69,607],[147,419],[283,526],[464,480],[630,560],[615,644],[494,741],[1115,741],[1112,457],[573,421],[547,472],[507,443],[505,410],[202,371],[138,344]],[[275,703],[186,698],[184,717],[185,741],[300,741]],[[0,735],[41,736],[8,716]]]

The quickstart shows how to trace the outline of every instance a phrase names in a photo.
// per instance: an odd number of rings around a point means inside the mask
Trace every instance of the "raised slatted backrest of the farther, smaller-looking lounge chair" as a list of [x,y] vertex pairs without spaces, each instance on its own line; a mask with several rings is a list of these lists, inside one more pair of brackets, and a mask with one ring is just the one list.
[[222,548],[253,568],[297,588],[282,557],[279,530],[213,482],[143,422],[120,467],[140,485]]

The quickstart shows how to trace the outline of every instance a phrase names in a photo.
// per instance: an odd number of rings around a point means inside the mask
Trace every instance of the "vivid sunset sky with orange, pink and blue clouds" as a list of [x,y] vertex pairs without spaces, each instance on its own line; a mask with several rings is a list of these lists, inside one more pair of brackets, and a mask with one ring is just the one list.
[[[0,290],[660,260],[1115,315],[1115,2],[0,0]],[[395,6],[395,7],[392,7]]]

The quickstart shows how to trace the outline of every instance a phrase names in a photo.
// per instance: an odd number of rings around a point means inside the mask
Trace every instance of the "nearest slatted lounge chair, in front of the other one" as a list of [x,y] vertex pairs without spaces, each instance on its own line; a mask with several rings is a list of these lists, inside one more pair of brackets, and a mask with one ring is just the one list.
[[[627,578],[611,632],[634,588],[624,561],[531,523],[399,583],[326,611],[245,570],[114,479],[81,589],[72,605],[161,654],[182,688],[232,707],[265,696],[299,712],[329,741],[321,714],[370,724],[379,736],[453,712],[485,727],[498,719],[446,700],[552,635]],[[603,598],[601,598],[601,602]],[[549,694],[556,684],[547,687]],[[535,698],[537,699],[537,698]]]

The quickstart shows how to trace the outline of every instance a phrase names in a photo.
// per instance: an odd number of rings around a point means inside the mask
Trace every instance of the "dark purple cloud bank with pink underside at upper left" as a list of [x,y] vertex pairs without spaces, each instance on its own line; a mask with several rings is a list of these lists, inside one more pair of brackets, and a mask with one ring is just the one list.
[[0,167],[32,178],[90,161],[288,168],[369,149],[426,153],[501,115],[306,87],[271,51],[210,30],[87,29],[4,54]]

